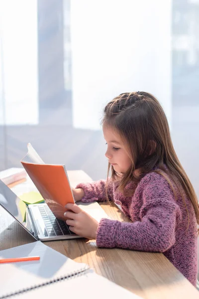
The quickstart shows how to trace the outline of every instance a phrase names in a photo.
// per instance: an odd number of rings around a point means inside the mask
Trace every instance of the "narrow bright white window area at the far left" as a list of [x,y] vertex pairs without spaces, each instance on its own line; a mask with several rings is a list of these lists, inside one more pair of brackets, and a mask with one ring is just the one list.
[[37,0],[0,0],[0,124],[38,123],[37,64]]

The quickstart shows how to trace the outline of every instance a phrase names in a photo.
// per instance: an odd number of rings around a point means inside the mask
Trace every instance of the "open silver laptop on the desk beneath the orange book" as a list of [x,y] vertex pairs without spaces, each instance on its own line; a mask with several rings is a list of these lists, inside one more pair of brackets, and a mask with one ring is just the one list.
[[[108,218],[99,203],[77,203],[97,221]],[[36,240],[50,241],[81,238],[65,221],[57,219],[46,203],[29,204],[24,219],[21,199],[0,180],[0,205]]]

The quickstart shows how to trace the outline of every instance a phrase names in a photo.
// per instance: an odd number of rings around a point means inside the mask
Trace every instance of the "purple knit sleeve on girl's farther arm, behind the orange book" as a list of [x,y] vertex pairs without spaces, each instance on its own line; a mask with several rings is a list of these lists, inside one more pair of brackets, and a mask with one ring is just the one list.
[[83,202],[106,201],[107,196],[109,201],[113,199],[113,182],[110,179],[107,181],[107,188],[106,180],[80,183],[76,188],[82,188],[84,190],[85,196],[82,198]]

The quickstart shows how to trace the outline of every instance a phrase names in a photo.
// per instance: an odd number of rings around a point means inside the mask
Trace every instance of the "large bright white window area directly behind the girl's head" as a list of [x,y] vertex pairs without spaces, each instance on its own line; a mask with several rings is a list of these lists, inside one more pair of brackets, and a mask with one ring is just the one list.
[[171,0],[71,1],[73,124],[99,129],[122,92],[158,97],[171,126]]

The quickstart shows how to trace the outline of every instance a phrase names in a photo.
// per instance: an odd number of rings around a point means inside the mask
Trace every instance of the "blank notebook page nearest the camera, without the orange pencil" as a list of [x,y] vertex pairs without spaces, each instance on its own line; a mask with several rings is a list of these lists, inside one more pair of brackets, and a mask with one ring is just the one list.
[[87,271],[75,279],[62,280],[33,292],[14,296],[13,299],[143,299],[106,278]]

